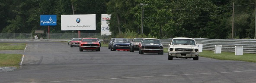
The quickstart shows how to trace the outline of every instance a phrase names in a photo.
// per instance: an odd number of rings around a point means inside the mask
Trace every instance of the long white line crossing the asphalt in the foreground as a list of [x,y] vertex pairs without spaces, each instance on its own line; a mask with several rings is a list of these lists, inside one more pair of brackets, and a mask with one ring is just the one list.
[[[256,71],[256,70],[250,70]],[[220,73],[236,73],[236,72],[249,72],[249,71],[230,71],[230,72],[220,72]],[[214,73],[198,73],[198,74],[177,74],[177,75],[162,75],[162,76],[144,76],[144,77],[120,77],[120,78],[103,78],[103,79],[87,79],[87,80],[63,80],[63,81],[45,81],[45,82],[30,82],[30,83],[53,83],[53,82],[74,82],[74,81],[89,81],[89,80],[114,80],[114,79],[130,79],[130,78],[146,78],[146,77],[170,77],[170,76],[182,76],[182,75],[199,75],[199,74],[218,74]],[[22,83],[22,82],[17,82]]]

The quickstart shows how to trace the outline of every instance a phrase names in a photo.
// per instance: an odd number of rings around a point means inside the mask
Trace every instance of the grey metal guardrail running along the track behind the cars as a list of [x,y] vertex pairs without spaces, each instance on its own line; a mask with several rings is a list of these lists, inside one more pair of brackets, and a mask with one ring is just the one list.
[[[67,41],[68,39],[0,39],[0,41]],[[132,39],[130,39],[131,41]],[[170,39],[160,39],[164,48],[168,48]],[[214,51],[215,45],[222,45],[222,51],[235,52],[235,46],[243,46],[244,53],[256,53],[256,39],[205,39],[195,38],[196,43],[202,43],[204,50]]]

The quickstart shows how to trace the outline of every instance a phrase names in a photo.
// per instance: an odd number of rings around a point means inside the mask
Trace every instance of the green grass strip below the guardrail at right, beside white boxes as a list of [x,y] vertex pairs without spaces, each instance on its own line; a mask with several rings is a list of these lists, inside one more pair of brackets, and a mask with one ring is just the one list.
[[[163,52],[167,53],[168,49],[164,48]],[[243,55],[235,55],[235,52],[221,52],[221,54],[214,54],[214,51],[203,50],[203,52],[199,52],[199,56],[220,59],[220,60],[256,62],[256,54],[251,54],[251,53],[243,53]]]

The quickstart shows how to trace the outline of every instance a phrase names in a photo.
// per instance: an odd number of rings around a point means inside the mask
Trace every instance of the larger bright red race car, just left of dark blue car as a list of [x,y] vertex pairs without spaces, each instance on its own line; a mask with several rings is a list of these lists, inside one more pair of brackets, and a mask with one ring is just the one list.
[[79,44],[79,51],[83,50],[100,51],[100,44],[97,38],[83,38]]

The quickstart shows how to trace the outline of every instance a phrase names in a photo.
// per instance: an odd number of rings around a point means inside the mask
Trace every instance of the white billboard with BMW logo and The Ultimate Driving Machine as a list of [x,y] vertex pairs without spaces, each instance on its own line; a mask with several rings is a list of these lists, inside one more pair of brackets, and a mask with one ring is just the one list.
[[96,30],[96,15],[61,15],[61,31]]

